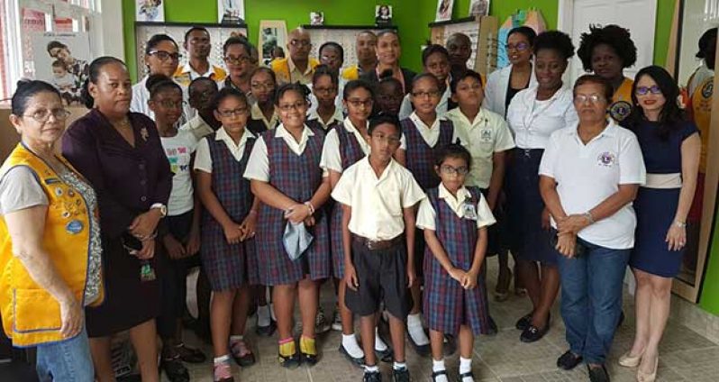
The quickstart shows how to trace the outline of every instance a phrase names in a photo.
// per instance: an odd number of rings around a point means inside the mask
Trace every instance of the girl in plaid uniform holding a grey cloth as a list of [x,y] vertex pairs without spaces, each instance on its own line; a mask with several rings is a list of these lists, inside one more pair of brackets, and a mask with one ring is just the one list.
[[[295,368],[317,362],[314,318],[317,281],[332,276],[329,226],[322,206],[330,196],[330,181],[320,168],[324,134],[305,125],[305,86],[278,88],[275,105],[281,124],[264,132],[252,150],[244,177],[262,202],[259,209],[259,283],[274,286],[272,301],[278,318],[279,362]],[[314,237],[298,259],[290,259],[283,244],[287,223],[305,224]],[[300,301],[300,351],[292,337],[295,296]]]

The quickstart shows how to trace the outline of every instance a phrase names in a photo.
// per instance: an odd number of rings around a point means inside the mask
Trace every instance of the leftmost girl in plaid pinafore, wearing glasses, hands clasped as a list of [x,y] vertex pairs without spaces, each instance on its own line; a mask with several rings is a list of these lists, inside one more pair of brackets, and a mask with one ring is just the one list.
[[213,108],[222,127],[200,141],[195,159],[197,192],[205,207],[200,254],[213,289],[214,380],[232,381],[231,356],[241,367],[255,363],[243,334],[249,286],[257,284],[254,238],[259,202],[242,174],[256,137],[246,129],[250,105],[240,90],[223,88]]

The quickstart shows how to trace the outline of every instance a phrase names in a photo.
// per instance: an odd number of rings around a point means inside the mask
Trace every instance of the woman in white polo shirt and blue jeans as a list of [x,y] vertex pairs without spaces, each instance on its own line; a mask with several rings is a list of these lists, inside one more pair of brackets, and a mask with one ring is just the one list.
[[614,89],[585,75],[574,85],[579,122],[553,132],[540,164],[540,192],[551,214],[569,350],[557,366],[584,359],[592,382],[609,381],[606,356],[622,313],[624,269],[634,245],[632,201],[644,184],[633,132],[606,117]]

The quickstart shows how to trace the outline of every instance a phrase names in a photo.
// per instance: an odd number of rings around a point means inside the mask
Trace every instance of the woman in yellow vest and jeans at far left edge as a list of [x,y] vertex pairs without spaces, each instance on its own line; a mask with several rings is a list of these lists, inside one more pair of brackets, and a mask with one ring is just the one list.
[[21,83],[10,122],[21,142],[0,168],[0,309],[41,381],[93,381],[83,309],[103,302],[96,194],[55,151],[68,111],[58,90]]

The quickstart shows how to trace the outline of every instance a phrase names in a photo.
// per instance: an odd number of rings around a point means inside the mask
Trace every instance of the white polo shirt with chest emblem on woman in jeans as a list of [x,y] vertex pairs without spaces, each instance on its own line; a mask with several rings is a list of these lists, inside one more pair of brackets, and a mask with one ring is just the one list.
[[[612,196],[620,185],[643,185],[646,169],[642,149],[633,132],[610,119],[605,130],[585,145],[578,125],[551,134],[539,174],[557,182],[565,213],[584,214]],[[552,220],[552,226],[557,224]],[[589,225],[579,237],[605,248],[633,248],[636,216],[632,204]]]

